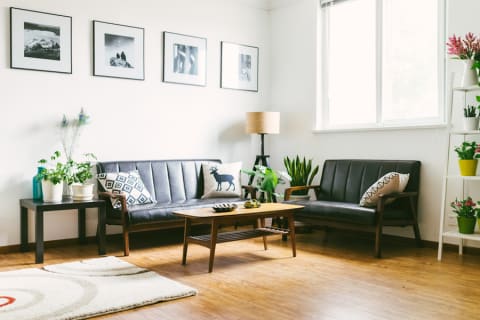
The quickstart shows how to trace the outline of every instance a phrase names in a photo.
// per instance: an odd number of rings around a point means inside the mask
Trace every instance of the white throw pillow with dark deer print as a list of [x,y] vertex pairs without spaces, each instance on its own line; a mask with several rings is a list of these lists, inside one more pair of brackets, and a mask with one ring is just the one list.
[[202,199],[240,197],[242,194],[241,169],[241,162],[202,164]]

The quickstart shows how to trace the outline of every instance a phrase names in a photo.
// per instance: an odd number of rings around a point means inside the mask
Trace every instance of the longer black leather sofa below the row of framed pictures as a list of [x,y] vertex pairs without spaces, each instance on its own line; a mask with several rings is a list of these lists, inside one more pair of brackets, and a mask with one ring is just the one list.
[[[107,161],[97,163],[97,173],[137,170],[156,203],[127,206],[122,194],[105,192],[98,184],[99,198],[106,200],[107,224],[121,225],[124,254],[129,255],[129,233],[143,230],[183,227],[184,220],[173,211],[210,207],[218,202],[235,202],[241,198],[209,198],[203,195],[202,163],[221,163],[218,159]],[[247,188],[255,197],[254,188]],[[122,206],[114,209],[110,199],[120,199]]]

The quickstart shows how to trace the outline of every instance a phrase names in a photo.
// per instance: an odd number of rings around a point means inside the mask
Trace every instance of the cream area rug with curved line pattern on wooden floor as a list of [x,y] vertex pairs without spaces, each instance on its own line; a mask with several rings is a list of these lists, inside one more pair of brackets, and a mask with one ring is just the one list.
[[0,272],[1,320],[73,320],[197,294],[115,257]]

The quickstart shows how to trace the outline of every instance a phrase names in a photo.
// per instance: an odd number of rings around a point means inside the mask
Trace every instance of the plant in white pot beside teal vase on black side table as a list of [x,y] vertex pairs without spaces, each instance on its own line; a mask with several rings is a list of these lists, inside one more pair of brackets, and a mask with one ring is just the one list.
[[63,194],[63,182],[67,178],[66,165],[58,161],[60,151],[55,151],[50,161],[40,159],[42,169],[37,177],[42,181],[42,193],[44,202],[61,202]]

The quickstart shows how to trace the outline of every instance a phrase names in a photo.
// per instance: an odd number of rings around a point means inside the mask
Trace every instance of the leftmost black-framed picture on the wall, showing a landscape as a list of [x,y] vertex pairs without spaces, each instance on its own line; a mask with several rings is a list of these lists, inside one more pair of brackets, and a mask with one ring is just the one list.
[[10,68],[72,73],[72,17],[10,7]]

